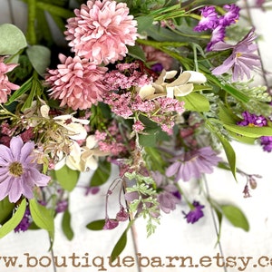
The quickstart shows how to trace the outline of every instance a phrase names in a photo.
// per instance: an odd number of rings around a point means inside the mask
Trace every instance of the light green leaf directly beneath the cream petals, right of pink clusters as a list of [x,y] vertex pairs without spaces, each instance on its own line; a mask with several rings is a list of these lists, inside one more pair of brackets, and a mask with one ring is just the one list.
[[209,112],[209,100],[198,92],[191,92],[186,96],[178,97],[178,99],[185,102],[184,107],[189,111]]

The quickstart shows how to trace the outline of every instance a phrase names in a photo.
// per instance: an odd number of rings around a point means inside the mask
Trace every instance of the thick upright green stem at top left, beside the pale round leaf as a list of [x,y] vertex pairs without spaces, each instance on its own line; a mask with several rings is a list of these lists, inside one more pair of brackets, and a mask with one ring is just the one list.
[[29,44],[36,44],[37,38],[35,33],[36,18],[36,0],[27,0],[28,20],[27,20],[27,38]]

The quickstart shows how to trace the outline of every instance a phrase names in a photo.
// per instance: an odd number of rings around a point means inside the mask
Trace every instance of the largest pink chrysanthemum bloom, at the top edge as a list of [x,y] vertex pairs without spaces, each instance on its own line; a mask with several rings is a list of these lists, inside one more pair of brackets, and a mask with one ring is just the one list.
[[137,22],[129,15],[124,3],[90,0],[74,11],[76,17],[67,20],[66,39],[74,53],[95,64],[114,63],[134,45]]

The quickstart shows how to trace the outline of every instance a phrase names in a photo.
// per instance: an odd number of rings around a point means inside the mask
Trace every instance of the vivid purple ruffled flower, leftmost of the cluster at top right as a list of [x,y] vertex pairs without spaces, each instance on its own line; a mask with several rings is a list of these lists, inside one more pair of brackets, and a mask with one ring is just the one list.
[[204,6],[200,9],[201,19],[199,24],[194,28],[194,31],[206,31],[214,29],[219,24],[219,17],[214,6]]

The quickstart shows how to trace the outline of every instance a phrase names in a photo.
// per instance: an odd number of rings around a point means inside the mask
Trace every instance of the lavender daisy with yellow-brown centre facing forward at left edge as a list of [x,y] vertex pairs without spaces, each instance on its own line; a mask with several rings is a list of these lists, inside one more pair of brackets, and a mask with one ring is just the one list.
[[0,144],[0,200],[32,199],[35,186],[46,186],[50,177],[39,171],[33,151],[34,142],[24,143],[20,136],[12,138],[10,148]]

